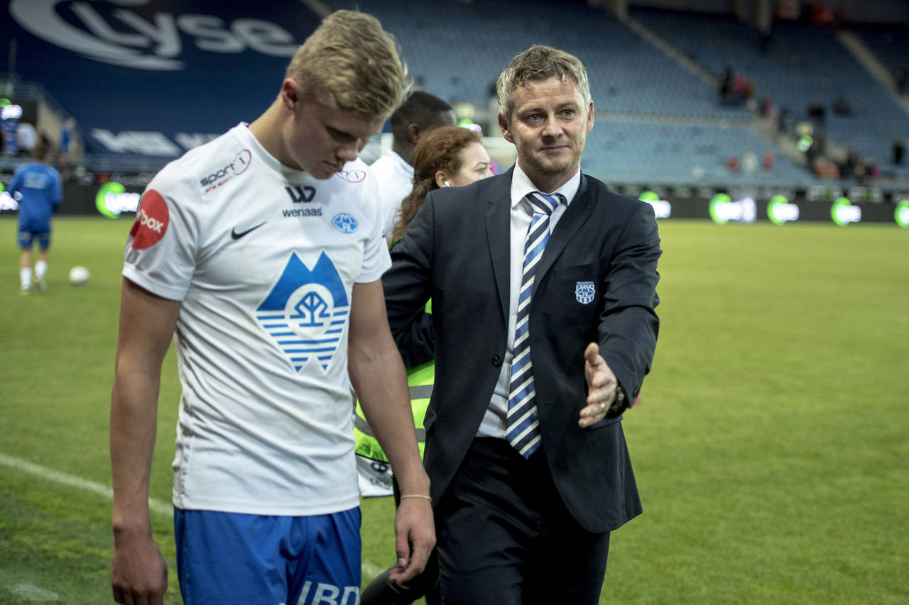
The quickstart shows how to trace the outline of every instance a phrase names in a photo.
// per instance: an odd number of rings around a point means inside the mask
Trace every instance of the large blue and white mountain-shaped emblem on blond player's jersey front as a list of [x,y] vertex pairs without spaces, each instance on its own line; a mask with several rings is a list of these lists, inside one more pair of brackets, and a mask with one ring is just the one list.
[[321,253],[310,270],[291,253],[255,319],[296,372],[310,361],[327,372],[345,337],[349,312],[344,282],[328,255]]

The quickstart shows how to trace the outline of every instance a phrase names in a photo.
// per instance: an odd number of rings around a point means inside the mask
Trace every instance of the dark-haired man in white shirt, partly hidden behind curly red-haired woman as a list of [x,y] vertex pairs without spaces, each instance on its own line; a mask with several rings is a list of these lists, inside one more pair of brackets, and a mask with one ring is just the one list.
[[392,148],[370,167],[379,183],[379,203],[385,220],[385,240],[389,245],[395,214],[414,186],[414,166],[410,155],[420,135],[439,126],[454,125],[454,108],[447,101],[422,90],[411,93],[392,114]]

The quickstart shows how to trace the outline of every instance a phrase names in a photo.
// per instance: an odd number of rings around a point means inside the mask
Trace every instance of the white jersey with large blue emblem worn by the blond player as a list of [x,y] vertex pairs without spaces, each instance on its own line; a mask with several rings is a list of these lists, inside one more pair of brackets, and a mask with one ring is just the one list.
[[358,505],[347,332],[354,283],[391,264],[375,197],[363,162],[320,181],[280,164],[245,124],[148,184],[123,274],[182,301],[178,508]]

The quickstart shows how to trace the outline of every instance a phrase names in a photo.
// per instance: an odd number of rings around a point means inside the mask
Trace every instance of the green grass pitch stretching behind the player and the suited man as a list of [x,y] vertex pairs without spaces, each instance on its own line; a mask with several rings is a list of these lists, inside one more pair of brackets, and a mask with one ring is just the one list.
[[[129,226],[57,219],[49,292],[21,297],[15,219],[0,219],[0,603],[112,602],[107,426]],[[661,234],[654,369],[624,422],[644,515],[613,535],[601,602],[909,602],[909,231]],[[66,283],[74,264],[88,285]],[[165,511],[178,395],[170,352],[151,486]],[[364,503],[365,581],[394,556],[393,508]],[[170,519],[153,521],[179,603]]]

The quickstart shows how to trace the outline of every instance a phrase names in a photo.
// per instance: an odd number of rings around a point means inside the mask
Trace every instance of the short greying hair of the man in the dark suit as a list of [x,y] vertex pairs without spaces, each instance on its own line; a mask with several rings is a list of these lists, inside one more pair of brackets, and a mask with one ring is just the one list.
[[563,82],[565,78],[570,79],[584,98],[584,104],[590,104],[590,82],[581,60],[552,46],[533,45],[516,55],[495,81],[499,113],[506,120],[510,118],[515,88],[524,86],[530,80],[548,80],[551,77]]

